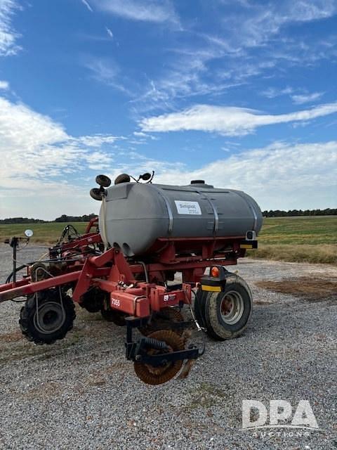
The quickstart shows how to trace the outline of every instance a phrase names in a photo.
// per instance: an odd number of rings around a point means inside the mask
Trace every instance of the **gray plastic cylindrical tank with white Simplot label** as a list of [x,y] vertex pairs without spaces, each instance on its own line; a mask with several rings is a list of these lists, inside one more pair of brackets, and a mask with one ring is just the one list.
[[246,236],[251,230],[258,234],[262,226],[260,207],[253,198],[203,181],[189,186],[111,186],[99,220],[103,240],[118,245],[127,256],[144,255],[157,238]]

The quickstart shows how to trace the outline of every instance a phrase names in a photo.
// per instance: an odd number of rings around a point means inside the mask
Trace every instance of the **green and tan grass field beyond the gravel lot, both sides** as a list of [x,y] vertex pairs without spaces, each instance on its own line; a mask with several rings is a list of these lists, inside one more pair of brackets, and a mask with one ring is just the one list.
[[[71,222],[69,222],[71,223]],[[81,233],[83,222],[72,222]],[[0,225],[0,242],[11,236],[23,236],[25,229],[34,231],[32,243],[52,244],[66,224]],[[269,217],[263,221],[259,248],[250,257],[290,262],[337,264],[337,216]]]

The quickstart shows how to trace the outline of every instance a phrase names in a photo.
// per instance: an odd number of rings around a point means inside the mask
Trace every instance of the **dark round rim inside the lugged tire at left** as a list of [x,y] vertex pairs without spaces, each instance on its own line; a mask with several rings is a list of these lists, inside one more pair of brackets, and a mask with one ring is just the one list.
[[34,326],[43,334],[55,333],[65,323],[65,312],[60,303],[48,302],[34,314]]

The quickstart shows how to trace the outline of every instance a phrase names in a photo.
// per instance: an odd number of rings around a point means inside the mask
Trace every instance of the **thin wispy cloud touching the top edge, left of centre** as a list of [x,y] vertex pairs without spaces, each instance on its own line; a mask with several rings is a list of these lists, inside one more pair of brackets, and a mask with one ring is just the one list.
[[154,23],[178,23],[177,15],[169,0],[94,0],[94,2],[100,10],[122,18]]

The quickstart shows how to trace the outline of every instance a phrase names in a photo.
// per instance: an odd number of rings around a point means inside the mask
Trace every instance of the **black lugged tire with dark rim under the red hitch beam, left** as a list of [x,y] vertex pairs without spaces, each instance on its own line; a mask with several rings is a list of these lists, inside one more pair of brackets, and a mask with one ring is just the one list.
[[[37,314],[37,310],[39,314]],[[74,324],[75,306],[72,299],[58,289],[48,289],[27,297],[20,311],[20,328],[27,340],[35,344],[53,344],[65,338]]]

